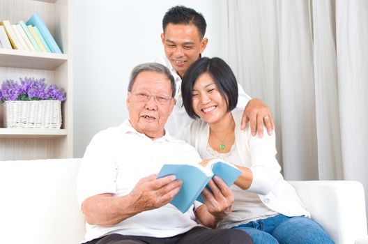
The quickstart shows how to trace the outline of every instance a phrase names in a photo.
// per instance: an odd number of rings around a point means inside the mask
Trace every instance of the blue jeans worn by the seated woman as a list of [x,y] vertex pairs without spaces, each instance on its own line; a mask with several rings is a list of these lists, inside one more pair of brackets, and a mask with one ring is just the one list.
[[334,243],[317,222],[305,217],[287,217],[282,214],[232,229],[249,234],[254,244],[328,244]]

